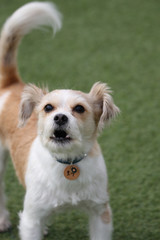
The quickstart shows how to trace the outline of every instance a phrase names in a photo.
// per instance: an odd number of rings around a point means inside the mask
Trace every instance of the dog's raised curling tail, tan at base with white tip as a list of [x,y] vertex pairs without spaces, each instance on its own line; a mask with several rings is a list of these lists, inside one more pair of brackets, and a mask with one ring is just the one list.
[[54,33],[61,28],[61,14],[52,3],[28,3],[5,22],[0,37],[0,88],[20,82],[16,53],[21,38],[32,29],[49,25]]

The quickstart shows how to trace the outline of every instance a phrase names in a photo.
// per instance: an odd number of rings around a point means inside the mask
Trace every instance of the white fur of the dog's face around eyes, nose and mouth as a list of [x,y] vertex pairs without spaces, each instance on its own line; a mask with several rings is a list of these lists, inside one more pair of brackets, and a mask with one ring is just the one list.
[[[73,102],[75,105],[79,102],[84,103],[88,111],[92,112],[91,107],[86,102],[86,99],[71,90],[53,91],[44,96],[42,103],[40,106],[38,106],[38,111],[43,109],[45,104],[48,102],[51,102],[53,105],[56,104],[56,110],[53,113],[49,114],[47,117],[44,117],[43,111],[39,113],[38,134],[41,137],[43,145],[49,148],[51,152],[54,152],[54,154],[58,153],[58,157],[62,158],[74,158],[77,157],[77,155],[81,155],[82,153],[88,153],[93,144],[92,135],[93,131],[95,130],[93,115],[90,114],[85,123],[78,122],[77,119],[72,115],[70,106],[70,102]],[[55,144],[53,141],[49,141],[49,137],[53,134],[53,129],[56,127],[53,119],[55,115],[59,113],[63,113],[68,117],[69,123],[66,130],[69,133],[70,137],[74,139],[74,141],[72,141],[70,144],[66,144],[65,146],[62,145],[57,147],[57,144]],[[74,151],[75,149],[76,151]],[[60,153],[62,154],[61,156]]]

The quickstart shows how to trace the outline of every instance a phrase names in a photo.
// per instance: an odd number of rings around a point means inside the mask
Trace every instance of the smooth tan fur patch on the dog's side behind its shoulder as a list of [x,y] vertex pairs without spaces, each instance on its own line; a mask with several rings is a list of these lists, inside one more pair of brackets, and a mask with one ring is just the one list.
[[25,186],[24,176],[27,157],[31,144],[37,134],[37,117],[33,114],[23,129],[17,128],[19,104],[23,88],[23,84],[14,84],[0,91],[0,95],[5,91],[11,92],[0,115],[0,138],[3,144],[10,150],[17,176]]

